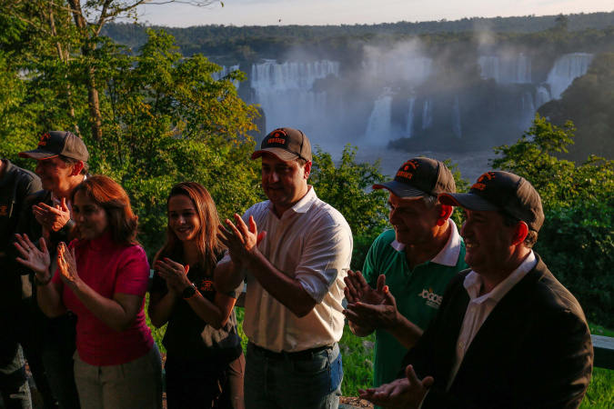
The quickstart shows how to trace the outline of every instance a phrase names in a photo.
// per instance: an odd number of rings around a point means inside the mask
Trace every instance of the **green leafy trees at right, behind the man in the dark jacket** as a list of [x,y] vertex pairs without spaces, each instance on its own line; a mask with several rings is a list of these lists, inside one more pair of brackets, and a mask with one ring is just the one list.
[[536,116],[517,144],[499,146],[493,167],[535,186],[546,221],[536,251],[569,288],[590,321],[614,326],[614,162],[590,156],[582,165],[552,154],[566,152],[573,125],[563,128]]

